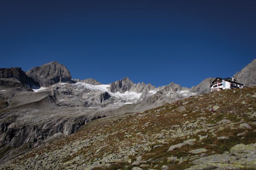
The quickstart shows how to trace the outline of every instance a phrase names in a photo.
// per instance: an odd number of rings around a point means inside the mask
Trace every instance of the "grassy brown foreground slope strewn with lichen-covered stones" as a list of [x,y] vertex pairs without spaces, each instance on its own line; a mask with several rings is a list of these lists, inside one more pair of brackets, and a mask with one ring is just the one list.
[[0,169],[254,169],[255,99],[256,86],[97,119]]

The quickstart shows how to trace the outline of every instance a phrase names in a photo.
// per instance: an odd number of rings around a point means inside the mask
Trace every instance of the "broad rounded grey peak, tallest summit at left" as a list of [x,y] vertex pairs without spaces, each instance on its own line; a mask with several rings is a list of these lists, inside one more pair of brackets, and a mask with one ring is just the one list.
[[27,71],[26,74],[38,82],[42,87],[49,87],[59,82],[72,82],[68,69],[57,61],[39,67],[33,67]]

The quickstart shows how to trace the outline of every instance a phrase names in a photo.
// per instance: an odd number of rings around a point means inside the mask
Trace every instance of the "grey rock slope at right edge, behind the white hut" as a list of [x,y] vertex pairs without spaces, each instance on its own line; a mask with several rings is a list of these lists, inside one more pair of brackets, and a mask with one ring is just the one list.
[[239,83],[243,83],[246,87],[256,85],[256,59],[246,65],[240,72],[234,75]]

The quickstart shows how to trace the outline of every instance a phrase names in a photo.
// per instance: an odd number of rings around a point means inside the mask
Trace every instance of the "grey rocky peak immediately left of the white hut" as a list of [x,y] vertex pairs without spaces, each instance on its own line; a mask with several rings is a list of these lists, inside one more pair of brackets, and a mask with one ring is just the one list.
[[[206,93],[210,92],[211,91],[210,85],[214,79],[215,78],[213,77],[205,78],[198,85],[193,86],[189,89],[189,95],[196,95],[196,94],[201,94],[205,92]],[[206,91],[205,91],[205,87],[206,87]]]

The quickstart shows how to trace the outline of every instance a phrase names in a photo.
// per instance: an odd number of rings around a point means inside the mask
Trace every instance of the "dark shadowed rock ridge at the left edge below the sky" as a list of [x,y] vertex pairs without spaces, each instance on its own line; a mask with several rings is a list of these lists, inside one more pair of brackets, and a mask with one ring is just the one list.
[[0,86],[5,87],[39,86],[31,77],[28,77],[20,67],[0,68]]

